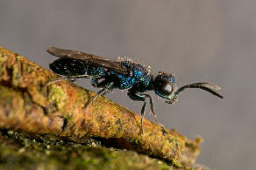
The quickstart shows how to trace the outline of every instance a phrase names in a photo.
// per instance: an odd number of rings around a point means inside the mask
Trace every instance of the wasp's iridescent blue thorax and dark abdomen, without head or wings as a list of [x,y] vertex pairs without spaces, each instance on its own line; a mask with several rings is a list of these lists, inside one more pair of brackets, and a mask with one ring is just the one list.
[[94,86],[99,84],[99,79],[104,79],[104,85],[110,82],[114,83],[112,89],[124,90],[136,85],[139,92],[152,90],[153,75],[145,66],[125,59],[119,61],[119,63],[130,71],[129,74],[120,74],[117,71],[112,71],[98,65],[91,65],[75,58],[60,58],[50,64],[50,68],[63,76],[74,77],[84,75],[84,77],[90,77],[91,83]]

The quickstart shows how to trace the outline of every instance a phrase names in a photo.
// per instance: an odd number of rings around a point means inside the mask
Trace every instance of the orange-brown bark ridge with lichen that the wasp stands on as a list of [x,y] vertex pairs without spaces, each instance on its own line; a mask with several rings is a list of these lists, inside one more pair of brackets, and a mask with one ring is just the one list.
[[195,162],[200,152],[197,140],[148,120],[141,134],[140,116],[105,97],[84,109],[96,94],[68,81],[46,86],[57,77],[0,47],[0,101],[4,101],[0,103],[0,128],[73,140],[124,139],[120,147],[167,160],[175,167],[190,167]]

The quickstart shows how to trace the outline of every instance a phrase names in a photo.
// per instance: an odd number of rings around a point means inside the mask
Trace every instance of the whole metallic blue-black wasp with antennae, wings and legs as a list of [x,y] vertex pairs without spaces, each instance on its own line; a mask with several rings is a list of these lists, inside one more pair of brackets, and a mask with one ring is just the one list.
[[[111,61],[108,58],[102,58],[96,55],[81,51],[71,51],[48,47],[46,50],[59,59],[50,64],[50,68],[57,74],[63,76],[50,83],[63,79],[75,80],[76,78],[90,78],[94,87],[102,88],[97,92],[97,96],[104,95],[113,89],[128,89],[127,95],[132,100],[144,102],[141,109],[141,129],[143,130],[143,118],[146,111],[146,99],[149,99],[150,110],[153,113],[155,122],[158,119],[153,108],[153,99],[147,91],[154,91],[158,96],[166,99],[167,104],[174,104],[179,94],[187,88],[200,88],[204,91],[223,99],[223,96],[214,90],[220,90],[220,87],[210,83],[195,83],[184,85],[177,89],[174,75],[160,71],[158,75],[153,76],[144,65],[132,62],[129,59]],[[92,103],[95,99],[92,99]]]

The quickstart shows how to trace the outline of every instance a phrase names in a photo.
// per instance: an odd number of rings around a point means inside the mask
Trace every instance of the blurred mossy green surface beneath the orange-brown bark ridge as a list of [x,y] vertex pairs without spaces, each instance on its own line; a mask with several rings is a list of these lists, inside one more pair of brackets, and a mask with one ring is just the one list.
[[65,139],[0,131],[0,169],[176,169],[132,151],[100,146],[95,140]]

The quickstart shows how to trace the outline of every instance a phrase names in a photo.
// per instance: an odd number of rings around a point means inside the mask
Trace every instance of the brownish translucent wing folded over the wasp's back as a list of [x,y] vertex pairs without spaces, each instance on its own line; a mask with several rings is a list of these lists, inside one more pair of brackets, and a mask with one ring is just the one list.
[[50,46],[46,49],[49,54],[56,56],[58,58],[75,58],[82,60],[86,64],[98,65],[106,69],[110,69],[112,71],[117,71],[121,74],[128,74],[129,71],[126,69],[124,65],[121,65],[118,62],[111,61],[108,58],[103,58],[100,56],[96,56],[93,54],[88,54],[81,51],[71,51],[66,49],[60,49],[53,46]]

